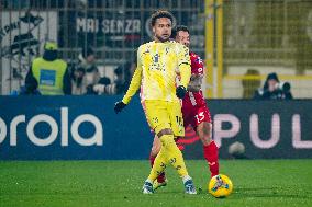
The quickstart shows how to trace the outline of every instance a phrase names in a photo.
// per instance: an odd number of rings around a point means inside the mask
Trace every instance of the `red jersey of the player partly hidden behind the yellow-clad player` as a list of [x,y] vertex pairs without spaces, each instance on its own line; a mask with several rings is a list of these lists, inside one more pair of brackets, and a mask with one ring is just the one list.
[[[203,76],[203,61],[194,53],[190,53],[191,59],[191,72],[192,74]],[[202,94],[202,91],[199,92],[187,92],[182,105],[192,105],[192,106],[202,106],[205,105],[205,101]]]

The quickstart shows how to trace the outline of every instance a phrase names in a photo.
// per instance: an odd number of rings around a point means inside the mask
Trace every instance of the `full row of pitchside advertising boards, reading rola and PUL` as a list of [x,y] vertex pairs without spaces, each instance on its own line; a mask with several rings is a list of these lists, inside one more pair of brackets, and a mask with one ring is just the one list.
[[[121,96],[0,97],[0,159],[146,159],[153,136],[138,97],[115,115]],[[208,102],[220,157],[239,141],[250,159],[312,158],[312,101]],[[188,159],[202,159],[199,138],[189,128],[180,139]]]

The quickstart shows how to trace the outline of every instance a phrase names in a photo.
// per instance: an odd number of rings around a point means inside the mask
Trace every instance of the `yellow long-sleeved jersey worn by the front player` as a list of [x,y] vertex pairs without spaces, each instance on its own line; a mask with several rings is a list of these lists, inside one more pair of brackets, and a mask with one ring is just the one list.
[[188,47],[168,41],[143,44],[137,49],[137,67],[122,102],[127,104],[141,87],[142,100],[175,102],[176,79],[187,88],[190,76],[190,55]]

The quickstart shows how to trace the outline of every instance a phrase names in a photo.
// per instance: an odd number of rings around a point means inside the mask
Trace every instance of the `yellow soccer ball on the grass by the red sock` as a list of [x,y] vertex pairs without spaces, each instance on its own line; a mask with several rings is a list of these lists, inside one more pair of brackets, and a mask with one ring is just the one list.
[[211,177],[208,184],[208,191],[214,197],[226,197],[232,193],[233,184],[229,176],[224,174],[219,174]]

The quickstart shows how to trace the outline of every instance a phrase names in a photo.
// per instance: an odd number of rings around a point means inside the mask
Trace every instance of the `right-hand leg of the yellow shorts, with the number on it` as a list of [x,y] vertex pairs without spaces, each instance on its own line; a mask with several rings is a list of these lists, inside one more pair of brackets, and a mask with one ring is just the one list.
[[170,113],[170,125],[175,137],[183,137],[185,126],[180,102],[170,103],[168,111]]

